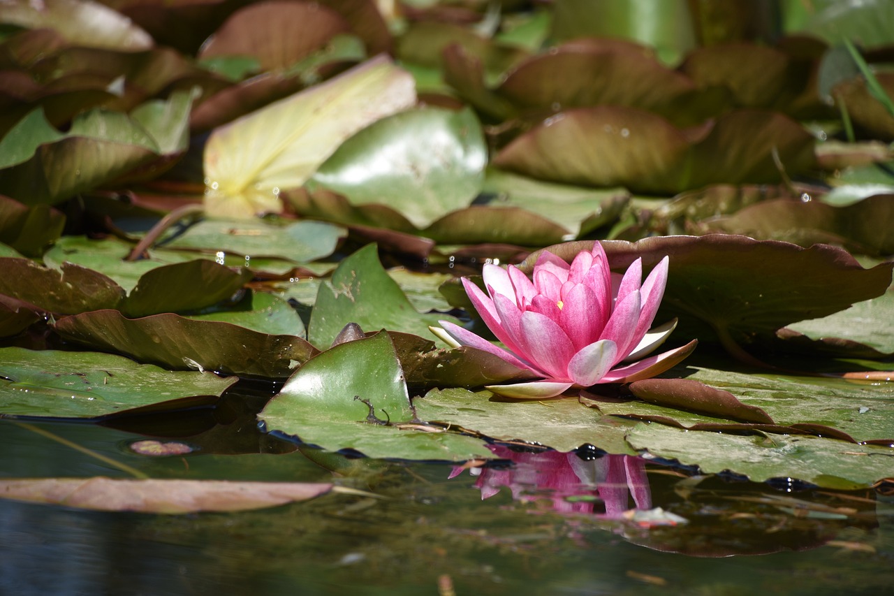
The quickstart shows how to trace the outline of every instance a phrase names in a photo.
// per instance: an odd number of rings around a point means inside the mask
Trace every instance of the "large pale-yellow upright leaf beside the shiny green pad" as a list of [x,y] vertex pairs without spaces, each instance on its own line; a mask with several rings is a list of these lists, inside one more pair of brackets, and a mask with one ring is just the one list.
[[415,101],[412,77],[383,56],[215,129],[205,147],[210,212],[279,211],[280,190],[299,187],[342,141]]

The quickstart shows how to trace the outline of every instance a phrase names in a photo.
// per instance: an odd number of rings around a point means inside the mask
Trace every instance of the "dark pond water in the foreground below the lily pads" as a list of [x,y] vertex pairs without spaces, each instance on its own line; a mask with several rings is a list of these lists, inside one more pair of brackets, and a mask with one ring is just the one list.
[[[129,477],[101,455],[153,478],[334,481],[372,494],[195,515],[0,500],[0,593],[879,594],[894,585],[890,485],[836,492],[510,447],[497,450],[508,460],[475,473],[350,458],[261,434],[259,403],[227,396],[215,409],[117,428],[0,421],[0,476]],[[160,436],[194,451],[131,448]],[[647,511],[619,513],[637,505]]]

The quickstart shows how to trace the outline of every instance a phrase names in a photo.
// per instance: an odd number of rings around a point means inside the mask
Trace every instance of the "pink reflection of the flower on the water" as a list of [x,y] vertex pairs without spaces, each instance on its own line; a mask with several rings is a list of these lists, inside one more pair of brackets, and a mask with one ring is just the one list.
[[[624,517],[630,507],[652,508],[652,495],[639,457],[606,455],[583,459],[576,453],[519,452],[498,445],[488,447],[493,455],[512,462],[512,467],[473,468],[481,498],[493,497],[509,487],[512,498],[537,501],[548,498],[560,513],[586,513],[609,519]],[[455,468],[451,478],[462,472]],[[604,511],[603,507],[604,505]]]

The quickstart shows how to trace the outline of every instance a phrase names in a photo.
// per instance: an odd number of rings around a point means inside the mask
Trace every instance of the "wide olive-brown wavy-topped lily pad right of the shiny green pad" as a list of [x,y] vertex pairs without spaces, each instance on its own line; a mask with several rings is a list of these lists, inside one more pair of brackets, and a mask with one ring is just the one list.
[[814,137],[784,115],[740,110],[697,132],[621,106],[553,115],[510,142],[493,165],[558,183],[674,194],[713,183],[775,183],[814,166]]

